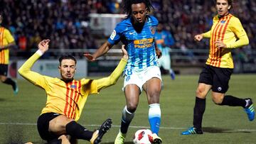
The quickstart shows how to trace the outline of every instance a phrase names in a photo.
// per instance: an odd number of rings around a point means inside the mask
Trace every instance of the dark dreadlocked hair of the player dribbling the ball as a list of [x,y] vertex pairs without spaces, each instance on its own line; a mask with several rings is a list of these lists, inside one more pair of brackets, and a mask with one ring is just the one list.
[[139,3],[144,3],[146,5],[147,11],[149,12],[151,9],[154,9],[150,0],[123,0],[122,9],[124,13],[126,13],[127,16],[129,17],[132,15],[132,4],[139,4]]

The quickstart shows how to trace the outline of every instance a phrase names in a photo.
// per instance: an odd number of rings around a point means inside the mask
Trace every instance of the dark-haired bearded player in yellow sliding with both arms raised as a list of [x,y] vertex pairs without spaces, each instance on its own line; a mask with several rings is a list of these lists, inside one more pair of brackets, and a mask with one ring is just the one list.
[[[38,117],[39,135],[48,143],[69,143],[69,140],[88,140],[100,143],[102,136],[110,129],[109,118],[96,131],[89,131],[77,123],[89,94],[97,94],[101,89],[115,84],[127,65],[127,51],[122,47],[123,57],[109,77],[102,79],[75,80],[76,60],[72,55],[59,58],[60,78],[48,77],[31,71],[31,67],[48,50],[50,40],[42,40],[38,50],[22,66],[18,73],[29,82],[46,91],[46,106]],[[68,139],[68,138],[69,139]],[[71,139],[70,139],[71,137]],[[68,139],[68,140],[67,140]]]

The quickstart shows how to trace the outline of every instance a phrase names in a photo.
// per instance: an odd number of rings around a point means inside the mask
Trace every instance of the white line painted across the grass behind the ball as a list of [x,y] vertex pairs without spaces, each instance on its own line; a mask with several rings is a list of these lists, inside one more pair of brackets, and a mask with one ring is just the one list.
[[[0,125],[21,125],[21,126],[36,126],[36,123],[0,123]],[[82,126],[100,126],[100,125],[82,125]],[[120,126],[112,125],[112,127],[119,128]],[[149,126],[129,126],[129,128],[150,128]],[[174,127],[160,127],[160,129],[185,130],[187,128]],[[230,131],[256,131],[255,129],[237,129]]]

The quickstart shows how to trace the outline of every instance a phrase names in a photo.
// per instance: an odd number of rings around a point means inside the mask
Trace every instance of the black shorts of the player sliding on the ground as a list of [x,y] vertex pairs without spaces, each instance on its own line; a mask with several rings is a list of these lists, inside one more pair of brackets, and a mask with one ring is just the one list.
[[55,135],[48,131],[50,120],[57,116],[60,116],[60,113],[43,113],[41,114],[41,116],[38,117],[38,133],[43,140],[47,140],[49,142],[50,140],[58,138],[58,135]]

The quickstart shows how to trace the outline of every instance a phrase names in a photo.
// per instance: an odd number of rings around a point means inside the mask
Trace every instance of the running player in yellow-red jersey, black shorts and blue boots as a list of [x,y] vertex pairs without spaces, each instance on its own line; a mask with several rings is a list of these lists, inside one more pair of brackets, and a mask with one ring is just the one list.
[[231,50],[248,45],[247,34],[239,19],[229,13],[233,6],[233,0],[216,0],[215,6],[218,14],[213,18],[211,30],[194,37],[197,41],[210,38],[210,53],[198,80],[196,104],[193,110],[193,127],[183,131],[182,135],[203,134],[201,125],[206,109],[206,94],[210,89],[212,89],[211,96],[215,104],[242,106],[250,121],[255,118],[252,99],[240,99],[232,95],[225,95],[234,68]]

